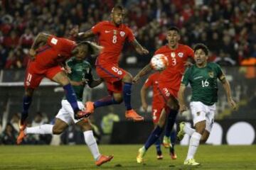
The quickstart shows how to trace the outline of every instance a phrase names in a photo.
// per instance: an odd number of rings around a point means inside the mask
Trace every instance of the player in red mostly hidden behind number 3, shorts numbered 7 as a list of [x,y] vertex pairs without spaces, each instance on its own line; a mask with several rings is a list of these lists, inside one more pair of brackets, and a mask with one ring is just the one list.
[[[154,74],[151,74],[149,76],[148,79],[146,79],[144,85],[142,86],[142,90],[141,90],[141,97],[142,97],[142,108],[144,109],[144,111],[147,111],[148,108],[148,104],[146,103],[146,91],[152,87],[153,89],[153,98],[152,98],[152,109],[151,109],[151,113],[152,113],[152,120],[154,123],[154,127],[156,127],[160,115],[161,115],[161,111],[164,109],[164,100],[161,96],[157,95],[158,94],[158,89],[157,86],[159,85],[159,77],[160,77],[161,72],[155,72]],[[176,142],[176,130],[172,130],[171,131],[171,147],[169,147],[170,149],[170,155],[171,155],[171,159],[176,159],[177,156],[174,152],[174,143]],[[156,158],[157,159],[163,159],[163,155],[161,152],[161,141],[160,138],[158,140],[156,140]]]

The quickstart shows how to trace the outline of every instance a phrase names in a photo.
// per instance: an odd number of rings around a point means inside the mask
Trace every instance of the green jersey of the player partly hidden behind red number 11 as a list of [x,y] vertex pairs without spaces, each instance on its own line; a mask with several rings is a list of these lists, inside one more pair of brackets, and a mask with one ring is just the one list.
[[[90,82],[93,80],[92,67],[89,62],[86,62],[85,60],[76,60],[75,57],[71,57],[66,64],[68,67],[70,67],[71,72],[68,73],[68,78],[71,81],[82,81],[87,79]],[[81,86],[73,86],[78,101],[82,101],[82,93],[84,88],[85,84]],[[65,99],[65,96],[63,99]]]

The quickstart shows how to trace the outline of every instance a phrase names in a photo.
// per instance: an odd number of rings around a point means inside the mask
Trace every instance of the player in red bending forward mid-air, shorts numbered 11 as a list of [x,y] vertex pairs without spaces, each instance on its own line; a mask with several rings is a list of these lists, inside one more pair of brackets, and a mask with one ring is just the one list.
[[30,50],[31,61],[26,69],[24,80],[25,95],[23,96],[23,111],[21,112],[20,132],[26,128],[26,118],[28,117],[28,108],[31,105],[33,91],[39,86],[43,77],[47,77],[65,89],[65,95],[73,108],[75,119],[87,116],[83,108],[78,107],[78,101],[75,96],[70,80],[60,67],[60,64],[68,60],[72,55],[84,55],[85,44],[80,42],[57,38],[54,35],[39,33]]

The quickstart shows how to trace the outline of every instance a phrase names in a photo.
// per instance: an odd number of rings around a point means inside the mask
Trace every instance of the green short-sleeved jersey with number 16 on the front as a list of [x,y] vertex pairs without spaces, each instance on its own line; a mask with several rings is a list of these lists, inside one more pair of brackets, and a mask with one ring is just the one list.
[[218,64],[208,63],[203,68],[198,68],[194,64],[186,70],[181,84],[191,84],[191,101],[201,101],[207,106],[212,106],[218,100],[217,79],[222,77],[223,72]]

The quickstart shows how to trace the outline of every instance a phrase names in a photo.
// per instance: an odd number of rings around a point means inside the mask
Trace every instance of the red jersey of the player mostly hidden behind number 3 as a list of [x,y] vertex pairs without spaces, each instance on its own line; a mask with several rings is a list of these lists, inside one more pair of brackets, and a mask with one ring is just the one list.
[[154,74],[151,74],[148,79],[146,79],[144,86],[150,87],[152,86],[153,88],[153,99],[152,99],[152,104],[163,104],[164,106],[164,99],[159,96],[159,77],[160,77],[159,72],[155,72]]

